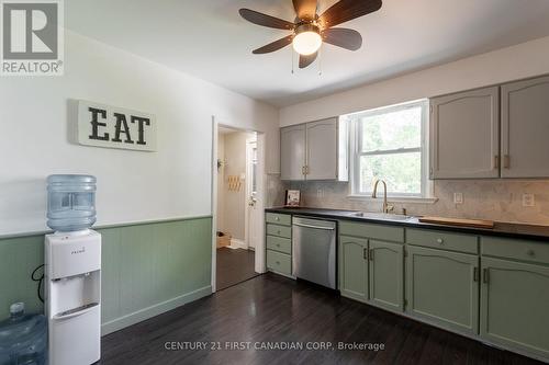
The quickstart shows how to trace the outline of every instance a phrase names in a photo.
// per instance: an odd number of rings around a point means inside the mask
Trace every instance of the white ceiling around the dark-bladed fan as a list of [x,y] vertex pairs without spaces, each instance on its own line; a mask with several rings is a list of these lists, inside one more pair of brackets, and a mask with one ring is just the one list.
[[[320,0],[322,10],[335,0]],[[362,48],[322,48],[295,66],[291,46],[251,49],[288,32],[238,15],[250,8],[289,21],[290,0],[70,0],[66,26],[227,89],[285,106],[367,82],[549,35],[548,0],[384,0],[380,11],[341,24]],[[322,75],[318,75],[322,70]]]

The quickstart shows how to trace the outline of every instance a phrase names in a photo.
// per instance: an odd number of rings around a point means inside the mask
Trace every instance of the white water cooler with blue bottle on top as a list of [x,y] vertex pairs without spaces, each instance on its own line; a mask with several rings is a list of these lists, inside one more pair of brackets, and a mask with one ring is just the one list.
[[101,235],[96,178],[51,175],[45,240],[49,365],[89,365],[101,356]]

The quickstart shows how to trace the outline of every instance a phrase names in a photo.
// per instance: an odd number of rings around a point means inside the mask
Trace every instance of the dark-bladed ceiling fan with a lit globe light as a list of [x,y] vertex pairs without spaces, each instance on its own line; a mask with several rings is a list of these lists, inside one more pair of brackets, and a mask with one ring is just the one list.
[[293,49],[300,54],[300,68],[307,67],[316,59],[323,42],[349,50],[359,49],[362,46],[360,33],[334,26],[381,9],[381,0],[340,0],[318,15],[317,0],[292,1],[296,14],[293,23],[250,9],[240,9],[239,13],[254,24],[291,31],[292,34],[254,49],[253,53],[268,54],[293,44]]

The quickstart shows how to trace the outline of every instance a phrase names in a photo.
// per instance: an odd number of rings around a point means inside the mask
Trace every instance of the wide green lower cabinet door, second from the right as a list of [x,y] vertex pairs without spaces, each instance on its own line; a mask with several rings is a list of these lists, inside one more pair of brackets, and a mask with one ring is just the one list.
[[479,333],[479,258],[407,247],[406,311],[450,330]]

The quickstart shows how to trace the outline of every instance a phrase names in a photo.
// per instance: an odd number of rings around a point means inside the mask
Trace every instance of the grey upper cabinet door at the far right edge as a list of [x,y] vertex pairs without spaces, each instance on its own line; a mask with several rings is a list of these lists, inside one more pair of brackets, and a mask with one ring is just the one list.
[[502,176],[549,176],[549,77],[502,87]]

